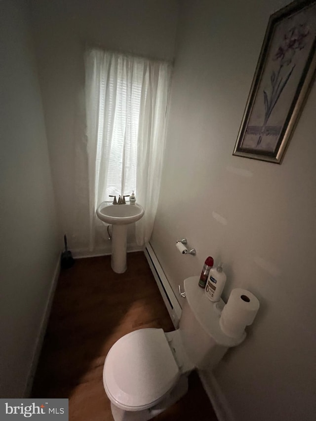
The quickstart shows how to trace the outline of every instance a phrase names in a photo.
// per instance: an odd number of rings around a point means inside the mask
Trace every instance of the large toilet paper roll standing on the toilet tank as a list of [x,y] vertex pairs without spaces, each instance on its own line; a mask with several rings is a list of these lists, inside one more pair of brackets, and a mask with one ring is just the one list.
[[233,289],[221,314],[222,331],[227,336],[239,338],[245,327],[254,321],[259,306],[258,299],[250,291],[242,288]]

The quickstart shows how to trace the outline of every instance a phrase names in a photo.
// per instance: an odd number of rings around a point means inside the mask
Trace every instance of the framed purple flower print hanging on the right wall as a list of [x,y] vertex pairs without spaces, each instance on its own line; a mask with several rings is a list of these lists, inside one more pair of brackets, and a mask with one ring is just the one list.
[[233,155],[280,163],[316,69],[316,0],[271,15]]

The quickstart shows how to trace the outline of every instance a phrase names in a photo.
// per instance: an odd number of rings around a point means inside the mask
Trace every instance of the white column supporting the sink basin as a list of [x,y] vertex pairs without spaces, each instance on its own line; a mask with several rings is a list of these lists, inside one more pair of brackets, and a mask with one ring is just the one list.
[[124,273],[126,266],[128,225],[112,225],[112,255],[111,267],[116,273]]

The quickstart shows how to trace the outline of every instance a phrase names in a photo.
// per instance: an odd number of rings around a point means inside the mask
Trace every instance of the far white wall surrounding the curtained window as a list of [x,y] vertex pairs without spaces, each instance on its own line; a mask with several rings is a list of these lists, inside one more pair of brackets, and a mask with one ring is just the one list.
[[[86,254],[84,47],[172,60],[178,0],[32,0],[32,8],[58,212],[70,247]],[[101,234],[98,246],[110,251]]]

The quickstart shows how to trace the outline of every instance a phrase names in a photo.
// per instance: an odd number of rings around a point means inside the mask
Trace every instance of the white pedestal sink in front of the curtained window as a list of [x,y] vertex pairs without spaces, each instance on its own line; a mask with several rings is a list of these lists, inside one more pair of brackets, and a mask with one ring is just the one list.
[[144,209],[138,203],[114,205],[102,202],[97,208],[98,218],[112,225],[111,267],[116,273],[126,270],[127,226],[139,221],[143,215]]

